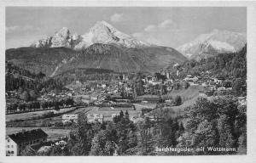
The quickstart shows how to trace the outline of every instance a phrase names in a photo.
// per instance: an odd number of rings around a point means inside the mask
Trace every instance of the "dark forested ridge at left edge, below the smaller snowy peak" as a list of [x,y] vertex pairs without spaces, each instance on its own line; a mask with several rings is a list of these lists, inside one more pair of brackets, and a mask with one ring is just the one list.
[[51,76],[57,66],[68,63],[78,52],[70,48],[11,48],[5,58],[22,69]]

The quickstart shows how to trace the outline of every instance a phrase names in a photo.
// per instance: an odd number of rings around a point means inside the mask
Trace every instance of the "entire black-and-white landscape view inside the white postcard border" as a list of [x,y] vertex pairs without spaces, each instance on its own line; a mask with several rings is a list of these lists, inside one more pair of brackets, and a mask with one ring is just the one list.
[[5,156],[247,155],[247,7],[4,13]]

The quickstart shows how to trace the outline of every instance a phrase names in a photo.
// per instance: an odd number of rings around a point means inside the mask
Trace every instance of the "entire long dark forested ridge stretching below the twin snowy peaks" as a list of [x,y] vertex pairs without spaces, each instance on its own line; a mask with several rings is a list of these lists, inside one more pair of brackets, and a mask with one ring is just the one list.
[[71,48],[15,48],[6,50],[6,60],[26,70],[56,76],[77,68],[96,68],[115,72],[156,72],[172,63],[186,60],[174,48],[125,48],[95,43],[83,51]]

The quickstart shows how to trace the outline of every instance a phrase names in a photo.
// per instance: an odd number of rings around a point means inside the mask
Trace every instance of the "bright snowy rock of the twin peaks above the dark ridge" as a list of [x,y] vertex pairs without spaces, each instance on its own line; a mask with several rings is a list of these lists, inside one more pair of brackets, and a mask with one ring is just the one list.
[[46,37],[31,44],[32,48],[65,47],[82,50],[94,43],[116,44],[125,48],[149,47],[151,44],[131,37],[108,24],[98,21],[84,35],[71,34],[67,27],[61,28],[51,37]]

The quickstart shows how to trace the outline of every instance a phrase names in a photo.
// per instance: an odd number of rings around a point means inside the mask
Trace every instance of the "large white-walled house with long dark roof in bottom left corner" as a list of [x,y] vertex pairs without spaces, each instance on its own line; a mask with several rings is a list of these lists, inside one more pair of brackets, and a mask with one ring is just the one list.
[[41,128],[30,131],[23,130],[22,132],[10,134],[5,138],[6,155],[20,155],[21,151],[26,149],[27,146],[44,143],[46,142],[47,137],[48,135]]

